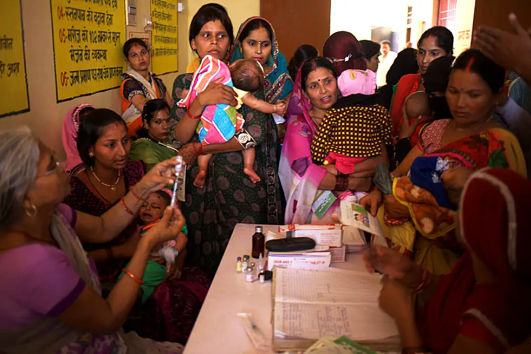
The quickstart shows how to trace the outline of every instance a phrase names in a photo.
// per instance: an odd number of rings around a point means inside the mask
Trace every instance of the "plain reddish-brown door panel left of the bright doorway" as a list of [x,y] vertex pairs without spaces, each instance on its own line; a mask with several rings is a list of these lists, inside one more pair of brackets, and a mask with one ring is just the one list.
[[323,53],[324,41],[330,36],[330,0],[261,0],[260,15],[273,25],[288,63],[303,44]]

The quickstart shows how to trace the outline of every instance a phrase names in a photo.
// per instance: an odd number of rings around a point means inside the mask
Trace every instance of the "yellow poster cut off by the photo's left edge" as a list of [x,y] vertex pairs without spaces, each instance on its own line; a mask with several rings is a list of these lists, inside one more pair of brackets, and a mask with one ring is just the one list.
[[0,10],[0,117],[30,110],[20,0],[2,0]]

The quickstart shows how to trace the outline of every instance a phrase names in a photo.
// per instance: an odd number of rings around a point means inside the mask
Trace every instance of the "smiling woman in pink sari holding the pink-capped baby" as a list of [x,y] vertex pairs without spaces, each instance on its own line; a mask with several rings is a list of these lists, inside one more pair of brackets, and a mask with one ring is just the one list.
[[[287,196],[286,223],[321,219],[313,209],[318,191],[367,191],[376,163],[387,160],[387,154],[384,154],[381,158],[363,161],[356,165],[355,174],[349,177],[337,176],[332,165],[325,167],[312,163],[310,146],[315,131],[338,99],[336,71],[332,65],[326,58],[311,58],[297,74],[294,97],[301,97],[302,114],[289,119],[279,167],[280,181]],[[341,187],[345,182],[347,185]],[[327,214],[336,206],[334,203],[326,208]]]

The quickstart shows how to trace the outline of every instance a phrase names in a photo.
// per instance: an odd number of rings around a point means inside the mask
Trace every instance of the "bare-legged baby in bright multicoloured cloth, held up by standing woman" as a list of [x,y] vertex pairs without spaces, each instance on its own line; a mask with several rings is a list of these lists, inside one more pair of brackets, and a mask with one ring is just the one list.
[[[260,63],[254,59],[240,59],[227,66],[219,59],[207,55],[201,61],[199,69],[194,73],[190,90],[186,97],[181,99],[179,107],[190,107],[199,92],[204,91],[211,81],[224,77],[223,84],[233,87],[238,97],[236,107],[225,104],[207,106],[201,114],[201,122],[196,132],[203,145],[222,144],[230,140],[245,123],[243,117],[237,112],[242,104],[262,113],[279,115],[286,114],[286,103],[278,102],[271,105],[259,100],[251,92],[258,90],[264,81],[264,72]],[[254,148],[243,150],[243,172],[251,178],[253,183],[259,182],[260,177],[254,171]],[[204,187],[207,177],[208,163],[212,154],[202,154],[198,157],[199,174],[195,177],[194,185]]]

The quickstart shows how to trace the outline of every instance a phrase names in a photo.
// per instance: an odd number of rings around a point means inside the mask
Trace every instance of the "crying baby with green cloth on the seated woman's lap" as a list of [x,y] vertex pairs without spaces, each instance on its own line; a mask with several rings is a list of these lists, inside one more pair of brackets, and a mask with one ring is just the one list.
[[[145,234],[151,227],[153,227],[162,218],[162,214],[166,207],[170,204],[172,199],[172,192],[169,189],[162,189],[162,191],[156,191],[149,195],[147,200],[141,206],[139,215],[142,226],[140,227],[140,236]],[[164,244],[159,244],[152,249],[148,264],[145,266],[144,282],[140,287],[143,290],[142,303],[148,300],[155,288],[166,279],[170,266],[172,264],[165,261],[162,252],[168,252],[168,246],[171,247],[170,251],[176,255],[175,263],[178,269],[182,269],[184,258],[186,255],[186,234],[187,229],[184,225],[181,234],[176,240],[169,241]],[[163,251],[164,250],[164,251]],[[180,265],[180,266],[179,266]],[[122,278],[120,274],[119,278]],[[118,278],[118,279],[119,279]]]

